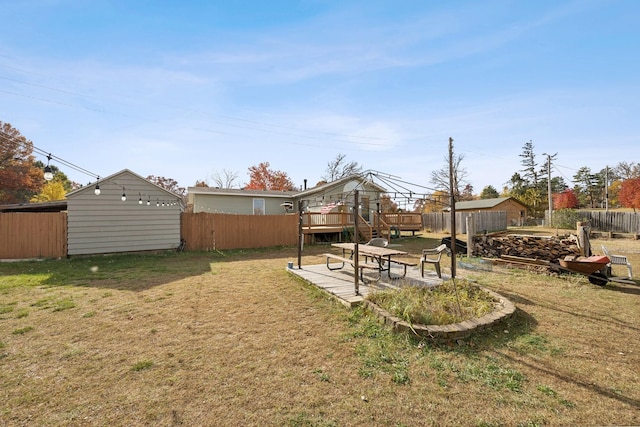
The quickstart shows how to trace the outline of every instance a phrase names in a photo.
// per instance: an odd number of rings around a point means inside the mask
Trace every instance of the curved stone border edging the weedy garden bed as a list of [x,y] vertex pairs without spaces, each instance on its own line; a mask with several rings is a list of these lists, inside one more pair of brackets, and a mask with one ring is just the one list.
[[411,325],[399,317],[391,315],[391,313],[383,310],[369,300],[362,302],[365,308],[372,310],[376,315],[384,321],[385,324],[391,326],[395,331],[415,333],[421,337],[431,338],[433,340],[454,341],[468,338],[473,332],[490,328],[495,324],[508,319],[515,311],[515,305],[503,297],[489,289],[480,287],[482,291],[488,293],[494,298],[494,311],[485,314],[482,317],[472,318],[459,323],[451,323],[448,325]]

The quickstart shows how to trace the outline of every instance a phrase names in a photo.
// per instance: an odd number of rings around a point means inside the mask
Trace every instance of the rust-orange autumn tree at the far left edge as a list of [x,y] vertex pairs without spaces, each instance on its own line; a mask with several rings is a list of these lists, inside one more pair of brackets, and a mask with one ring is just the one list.
[[32,153],[33,142],[0,121],[0,204],[26,203],[44,186]]

